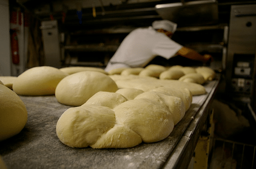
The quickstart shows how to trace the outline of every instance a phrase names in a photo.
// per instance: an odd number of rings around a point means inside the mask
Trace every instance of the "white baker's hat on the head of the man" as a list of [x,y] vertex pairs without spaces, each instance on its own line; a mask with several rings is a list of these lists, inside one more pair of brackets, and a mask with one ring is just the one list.
[[154,29],[164,29],[165,31],[175,32],[177,24],[169,20],[156,20],[152,23]]

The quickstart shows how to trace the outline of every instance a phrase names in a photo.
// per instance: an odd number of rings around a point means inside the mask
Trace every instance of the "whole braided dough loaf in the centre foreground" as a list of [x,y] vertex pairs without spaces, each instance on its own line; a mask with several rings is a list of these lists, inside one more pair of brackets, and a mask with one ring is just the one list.
[[[184,97],[172,96],[175,93]],[[128,148],[142,141],[157,142],[168,137],[185,114],[184,104],[191,101],[188,90],[171,88],[143,92],[133,100],[99,92],[83,105],[67,109],[57,122],[56,133],[63,144],[80,148]]]

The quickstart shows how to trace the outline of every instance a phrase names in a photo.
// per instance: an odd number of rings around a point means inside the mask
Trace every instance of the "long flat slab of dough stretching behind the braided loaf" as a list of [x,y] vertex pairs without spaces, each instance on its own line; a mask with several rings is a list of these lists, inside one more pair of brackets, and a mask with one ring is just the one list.
[[177,80],[162,80],[154,77],[140,77],[138,75],[109,75],[109,77],[115,81],[118,88],[137,88],[144,92],[159,87],[174,89],[188,88],[192,95],[200,95],[206,93],[205,88],[202,85],[196,83],[188,83]]

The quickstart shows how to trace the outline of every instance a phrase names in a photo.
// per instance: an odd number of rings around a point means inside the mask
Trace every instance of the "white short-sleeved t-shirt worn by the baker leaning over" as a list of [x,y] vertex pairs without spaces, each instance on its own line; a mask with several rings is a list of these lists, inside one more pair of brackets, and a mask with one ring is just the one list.
[[155,56],[166,59],[175,56],[182,45],[176,43],[164,33],[153,27],[138,28],[128,34],[122,41],[114,56],[110,59],[105,71],[121,67],[144,67]]

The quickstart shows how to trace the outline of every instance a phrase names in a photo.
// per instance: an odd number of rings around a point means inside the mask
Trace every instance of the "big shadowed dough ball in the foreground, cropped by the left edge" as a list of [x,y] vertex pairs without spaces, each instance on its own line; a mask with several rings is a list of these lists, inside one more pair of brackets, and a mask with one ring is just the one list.
[[18,134],[27,123],[27,109],[11,89],[0,85],[0,141]]

